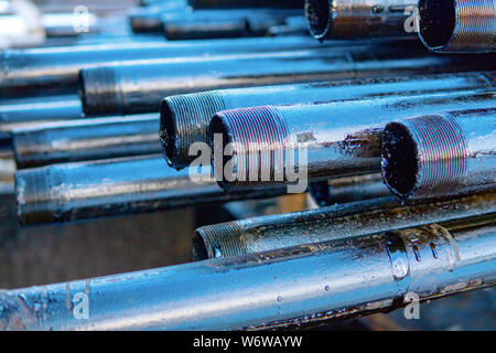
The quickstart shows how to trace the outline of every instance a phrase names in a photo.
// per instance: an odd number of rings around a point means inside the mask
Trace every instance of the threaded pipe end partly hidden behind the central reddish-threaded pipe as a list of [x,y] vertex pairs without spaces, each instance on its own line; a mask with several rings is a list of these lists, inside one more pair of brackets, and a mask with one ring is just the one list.
[[180,170],[196,156],[190,156],[194,142],[208,143],[212,117],[226,109],[216,92],[202,92],[166,97],[160,111],[160,140],[169,165]]

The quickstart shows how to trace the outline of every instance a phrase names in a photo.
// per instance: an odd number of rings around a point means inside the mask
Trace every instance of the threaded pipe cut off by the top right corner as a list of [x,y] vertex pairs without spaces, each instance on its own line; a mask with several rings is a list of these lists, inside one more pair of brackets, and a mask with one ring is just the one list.
[[495,0],[420,0],[419,35],[434,52],[496,51]]

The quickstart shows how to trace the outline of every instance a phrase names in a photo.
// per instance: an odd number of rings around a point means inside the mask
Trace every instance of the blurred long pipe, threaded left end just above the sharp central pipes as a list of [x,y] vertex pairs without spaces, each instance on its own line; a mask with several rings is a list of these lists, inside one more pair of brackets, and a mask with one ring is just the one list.
[[[241,40],[238,40],[241,41]],[[353,44],[309,50],[150,61],[82,69],[87,115],[158,111],[163,97],[208,89],[440,72],[494,69],[490,57],[435,56],[412,43]],[[489,62],[488,62],[489,61]]]

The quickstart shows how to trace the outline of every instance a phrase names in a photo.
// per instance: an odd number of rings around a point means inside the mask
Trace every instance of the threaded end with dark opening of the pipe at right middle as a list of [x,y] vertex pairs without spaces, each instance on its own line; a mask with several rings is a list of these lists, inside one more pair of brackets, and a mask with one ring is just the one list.
[[401,197],[455,192],[468,168],[467,141],[445,113],[388,124],[382,136],[382,178]]

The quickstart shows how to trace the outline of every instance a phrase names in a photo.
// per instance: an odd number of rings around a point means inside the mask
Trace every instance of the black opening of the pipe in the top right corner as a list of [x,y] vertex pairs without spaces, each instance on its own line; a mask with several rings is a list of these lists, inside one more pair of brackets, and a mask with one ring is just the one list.
[[449,44],[456,24],[455,1],[420,0],[420,36],[429,47]]

